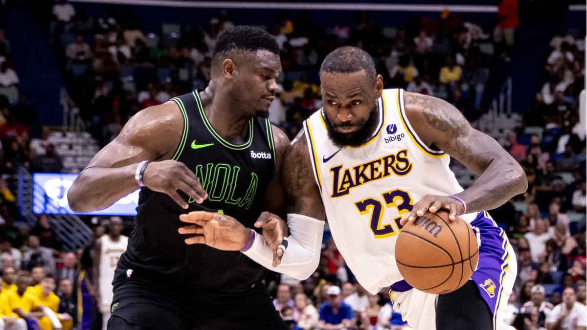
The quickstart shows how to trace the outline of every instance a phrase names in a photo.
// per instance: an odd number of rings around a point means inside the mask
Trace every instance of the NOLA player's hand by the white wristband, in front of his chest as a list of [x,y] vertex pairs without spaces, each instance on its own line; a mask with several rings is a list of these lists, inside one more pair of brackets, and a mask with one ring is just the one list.
[[191,200],[202,203],[208,194],[198,177],[184,163],[175,160],[153,161],[144,170],[143,183],[150,190],[167,194],[181,208],[188,208],[188,201],[177,193],[183,191]]

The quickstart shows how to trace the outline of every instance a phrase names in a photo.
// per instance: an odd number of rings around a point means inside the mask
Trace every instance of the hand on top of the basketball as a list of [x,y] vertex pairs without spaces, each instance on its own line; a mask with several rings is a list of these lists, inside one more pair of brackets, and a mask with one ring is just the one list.
[[458,215],[463,215],[465,205],[464,202],[451,196],[424,195],[418,203],[414,204],[410,213],[402,215],[400,224],[413,223],[417,217],[421,217],[426,212],[437,213],[440,210],[448,211],[448,219],[454,221]]

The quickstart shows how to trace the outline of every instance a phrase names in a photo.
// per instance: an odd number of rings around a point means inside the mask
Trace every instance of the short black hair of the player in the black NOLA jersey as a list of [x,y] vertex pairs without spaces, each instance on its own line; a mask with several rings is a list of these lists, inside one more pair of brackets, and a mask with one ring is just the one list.
[[233,52],[256,52],[268,50],[279,55],[279,45],[275,38],[263,29],[248,25],[237,25],[222,32],[212,52],[212,67],[219,61],[234,55]]

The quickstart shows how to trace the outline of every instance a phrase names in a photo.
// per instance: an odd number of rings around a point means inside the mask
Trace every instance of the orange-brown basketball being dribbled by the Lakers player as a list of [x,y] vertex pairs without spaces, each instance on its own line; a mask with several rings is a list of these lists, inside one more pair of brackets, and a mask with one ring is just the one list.
[[462,287],[477,268],[479,247],[471,227],[448,213],[426,213],[402,228],[396,241],[396,264],[414,288],[446,294]]

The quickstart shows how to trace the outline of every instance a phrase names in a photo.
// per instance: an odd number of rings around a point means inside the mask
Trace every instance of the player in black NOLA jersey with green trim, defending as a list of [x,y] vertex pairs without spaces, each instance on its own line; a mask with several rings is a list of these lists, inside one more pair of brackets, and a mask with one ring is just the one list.
[[[279,169],[289,141],[266,119],[280,72],[271,35],[248,26],[223,33],[210,85],[137,113],[73,183],[68,200],[80,212],[142,187],[109,329],[287,329],[261,282],[264,267],[239,251],[186,245],[178,233],[188,211],[255,228],[262,210],[284,210]],[[262,224],[267,240],[281,242],[283,221]],[[239,250],[247,240],[230,243]]]

